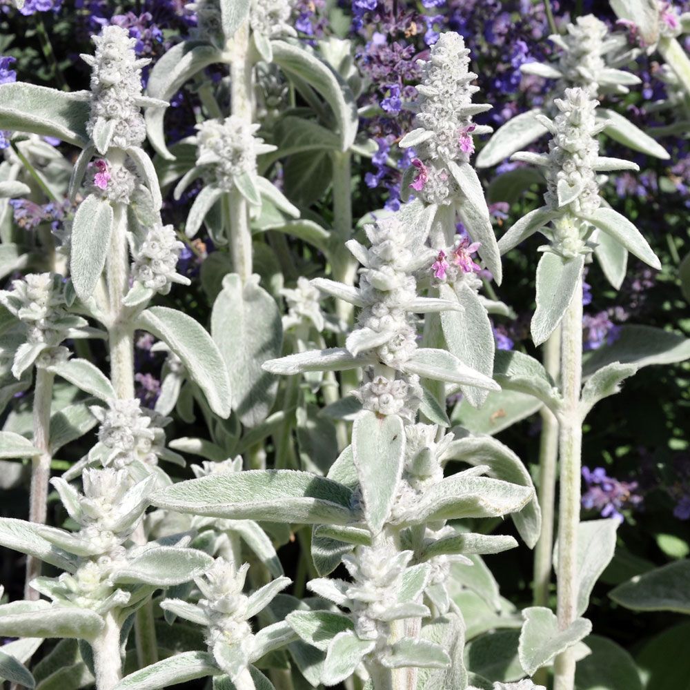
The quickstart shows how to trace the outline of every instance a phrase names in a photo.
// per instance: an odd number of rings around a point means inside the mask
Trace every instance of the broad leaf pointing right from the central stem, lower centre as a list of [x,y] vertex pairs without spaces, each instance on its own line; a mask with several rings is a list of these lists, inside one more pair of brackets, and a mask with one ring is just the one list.
[[427,489],[406,513],[403,524],[499,517],[516,513],[533,500],[533,489],[491,477],[477,477],[474,470],[446,477]]

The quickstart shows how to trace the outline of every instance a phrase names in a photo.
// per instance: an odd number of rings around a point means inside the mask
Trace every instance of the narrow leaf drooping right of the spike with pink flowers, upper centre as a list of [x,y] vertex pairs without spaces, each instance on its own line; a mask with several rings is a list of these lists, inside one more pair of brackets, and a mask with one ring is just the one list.
[[456,164],[447,162],[448,169],[460,186],[463,200],[457,211],[467,232],[475,242],[480,242],[477,250],[484,260],[486,268],[491,271],[497,285],[501,284],[503,269],[501,255],[496,243],[496,235],[491,226],[489,207],[486,206],[484,189],[475,169],[469,163]]

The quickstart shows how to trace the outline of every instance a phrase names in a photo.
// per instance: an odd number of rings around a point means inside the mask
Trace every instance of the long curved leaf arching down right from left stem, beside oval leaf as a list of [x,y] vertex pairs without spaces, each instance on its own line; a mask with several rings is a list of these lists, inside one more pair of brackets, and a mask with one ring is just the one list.
[[135,327],[166,342],[204,392],[210,408],[223,419],[230,416],[228,372],[216,344],[199,322],[177,309],[152,306],[137,316]]

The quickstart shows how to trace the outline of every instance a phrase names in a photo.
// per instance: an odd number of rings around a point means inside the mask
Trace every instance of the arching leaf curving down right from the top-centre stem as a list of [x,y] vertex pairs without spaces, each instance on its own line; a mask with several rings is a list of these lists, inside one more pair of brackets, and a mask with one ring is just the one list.
[[347,83],[313,53],[285,41],[271,41],[273,61],[288,77],[304,79],[331,106],[340,137],[340,150],[352,146],[357,134],[357,106]]

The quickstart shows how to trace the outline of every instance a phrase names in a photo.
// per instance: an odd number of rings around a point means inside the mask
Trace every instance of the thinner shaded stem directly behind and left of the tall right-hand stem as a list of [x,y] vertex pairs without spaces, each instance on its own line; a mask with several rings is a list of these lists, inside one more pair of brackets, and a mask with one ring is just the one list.
[[[560,369],[560,326],[544,344],[544,368],[553,380]],[[558,473],[558,420],[546,406],[542,407],[542,435],[539,448],[539,506],[542,511],[542,533],[534,549],[533,602],[535,606],[549,605],[551,563],[553,561],[553,529],[555,518],[556,476]],[[539,669],[533,680],[546,685],[548,671]]]

